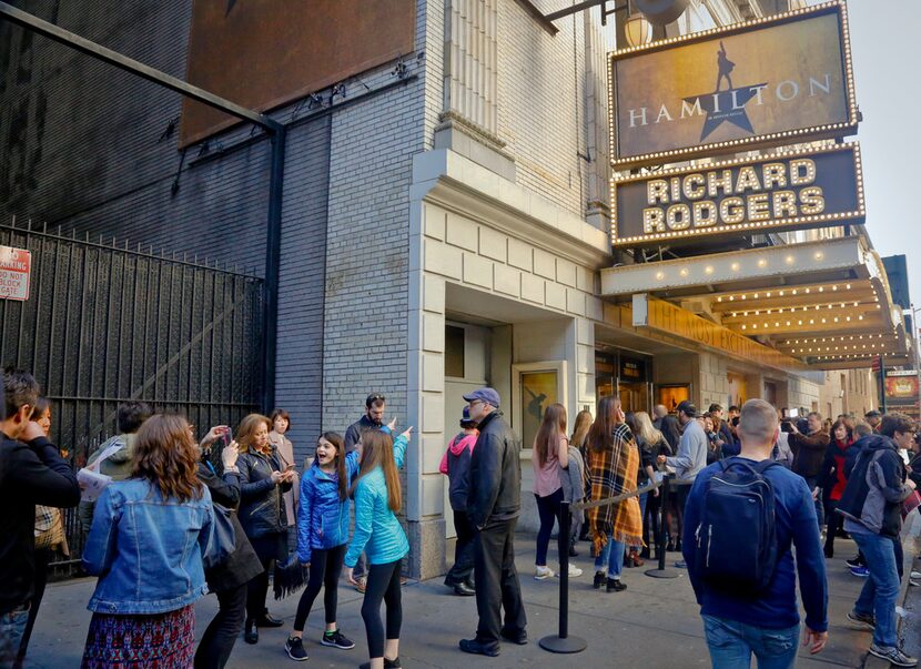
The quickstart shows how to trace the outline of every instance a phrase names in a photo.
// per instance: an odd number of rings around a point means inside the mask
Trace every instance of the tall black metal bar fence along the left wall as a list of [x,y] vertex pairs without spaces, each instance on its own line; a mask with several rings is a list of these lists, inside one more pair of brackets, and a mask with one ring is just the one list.
[[[0,224],[32,253],[30,296],[0,300],[0,361],[31,371],[51,401],[51,438],[75,468],[115,434],[115,409],[143,399],[203,434],[257,410],[262,280],[115,240]],[[67,514],[72,565],[80,527]]]

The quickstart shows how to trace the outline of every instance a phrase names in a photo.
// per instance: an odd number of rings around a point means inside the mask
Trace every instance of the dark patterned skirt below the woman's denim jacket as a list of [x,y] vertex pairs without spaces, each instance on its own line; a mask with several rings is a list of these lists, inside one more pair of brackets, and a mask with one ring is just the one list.
[[186,606],[153,616],[93,614],[81,669],[189,669],[195,614]]

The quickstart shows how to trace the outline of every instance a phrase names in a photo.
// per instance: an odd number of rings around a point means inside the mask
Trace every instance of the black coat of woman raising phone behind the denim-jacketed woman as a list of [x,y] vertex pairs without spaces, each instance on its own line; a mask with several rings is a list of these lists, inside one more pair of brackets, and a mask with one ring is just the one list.
[[[239,474],[225,472],[223,478],[221,478],[206,464],[199,463],[199,479],[208,486],[213,503],[236,511],[240,506]],[[205,580],[208,580],[208,588],[212,592],[231,590],[262,574],[262,564],[259,561],[250,539],[246,538],[246,533],[243,531],[243,526],[240,525],[236,513],[231,515],[231,524],[233,525],[235,539],[233,553],[223,564],[214,569],[209,569],[204,575]]]

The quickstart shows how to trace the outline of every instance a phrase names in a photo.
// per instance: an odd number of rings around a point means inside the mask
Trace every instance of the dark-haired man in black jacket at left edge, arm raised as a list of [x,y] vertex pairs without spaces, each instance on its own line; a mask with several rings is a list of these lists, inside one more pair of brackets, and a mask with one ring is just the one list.
[[36,505],[72,507],[77,477],[31,419],[39,384],[22,369],[3,372],[0,422],[0,666],[11,665],[29,619],[34,580]]

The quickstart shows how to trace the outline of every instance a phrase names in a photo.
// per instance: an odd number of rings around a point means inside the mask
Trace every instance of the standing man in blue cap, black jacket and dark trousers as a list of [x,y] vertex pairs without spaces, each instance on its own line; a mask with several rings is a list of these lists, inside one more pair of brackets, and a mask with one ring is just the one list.
[[[520,514],[520,445],[503,419],[499,394],[479,388],[464,395],[470,418],[478,423],[479,436],[470,457],[470,487],[467,517],[476,528],[474,537],[474,578],[476,637],[462,639],[460,650],[496,657],[499,638],[527,643],[527,617],[522,601],[522,586],[515,570],[515,525]],[[505,626],[502,625],[505,609]]]

